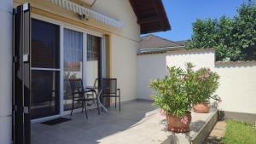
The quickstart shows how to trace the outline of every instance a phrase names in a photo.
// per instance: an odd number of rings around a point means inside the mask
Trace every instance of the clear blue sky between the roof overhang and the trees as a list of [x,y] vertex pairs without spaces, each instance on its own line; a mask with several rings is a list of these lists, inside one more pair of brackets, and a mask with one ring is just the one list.
[[172,30],[153,33],[170,40],[187,40],[191,37],[192,23],[196,19],[233,17],[236,9],[247,0],[162,0]]

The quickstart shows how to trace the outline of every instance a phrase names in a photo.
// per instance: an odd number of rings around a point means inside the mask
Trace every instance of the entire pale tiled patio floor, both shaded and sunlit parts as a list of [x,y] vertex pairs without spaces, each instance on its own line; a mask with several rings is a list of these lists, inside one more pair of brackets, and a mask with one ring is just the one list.
[[72,118],[53,126],[32,123],[32,144],[170,144],[201,143],[217,121],[216,109],[210,113],[192,112],[191,131],[175,134],[166,131],[166,118],[145,101],[125,103],[119,109],[97,114],[74,113]]

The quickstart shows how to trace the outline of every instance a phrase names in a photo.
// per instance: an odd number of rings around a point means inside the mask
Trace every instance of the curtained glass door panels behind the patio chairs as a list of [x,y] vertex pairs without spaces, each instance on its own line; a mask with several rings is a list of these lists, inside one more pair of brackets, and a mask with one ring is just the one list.
[[[102,37],[96,37],[67,28],[64,28],[63,33],[63,105],[64,111],[68,111],[72,108],[73,96],[71,94],[69,79],[80,78],[83,80],[84,86],[93,86],[96,78],[101,78],[100,58]],[[74,107],[81,107],[81,103],[75,102]]]

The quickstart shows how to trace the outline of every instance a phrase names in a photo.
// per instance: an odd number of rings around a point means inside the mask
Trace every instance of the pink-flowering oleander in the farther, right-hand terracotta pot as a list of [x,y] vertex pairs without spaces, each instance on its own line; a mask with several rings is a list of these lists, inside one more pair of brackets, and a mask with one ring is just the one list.
[[210,100],[221,101],[218,95],[212,95],[218,89],[218,74],[209,68],[201,68],[193,74],[193,111],[207,113],[210,110]]

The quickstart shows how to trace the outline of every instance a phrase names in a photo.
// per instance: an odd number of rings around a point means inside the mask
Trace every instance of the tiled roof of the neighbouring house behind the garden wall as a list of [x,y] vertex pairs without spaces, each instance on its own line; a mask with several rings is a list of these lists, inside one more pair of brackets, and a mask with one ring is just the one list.
[[141,43],[137,49],[138,55],[165,53],[167,51],[184,49],[186,41],[171,41],[152,34],[141,37]]

